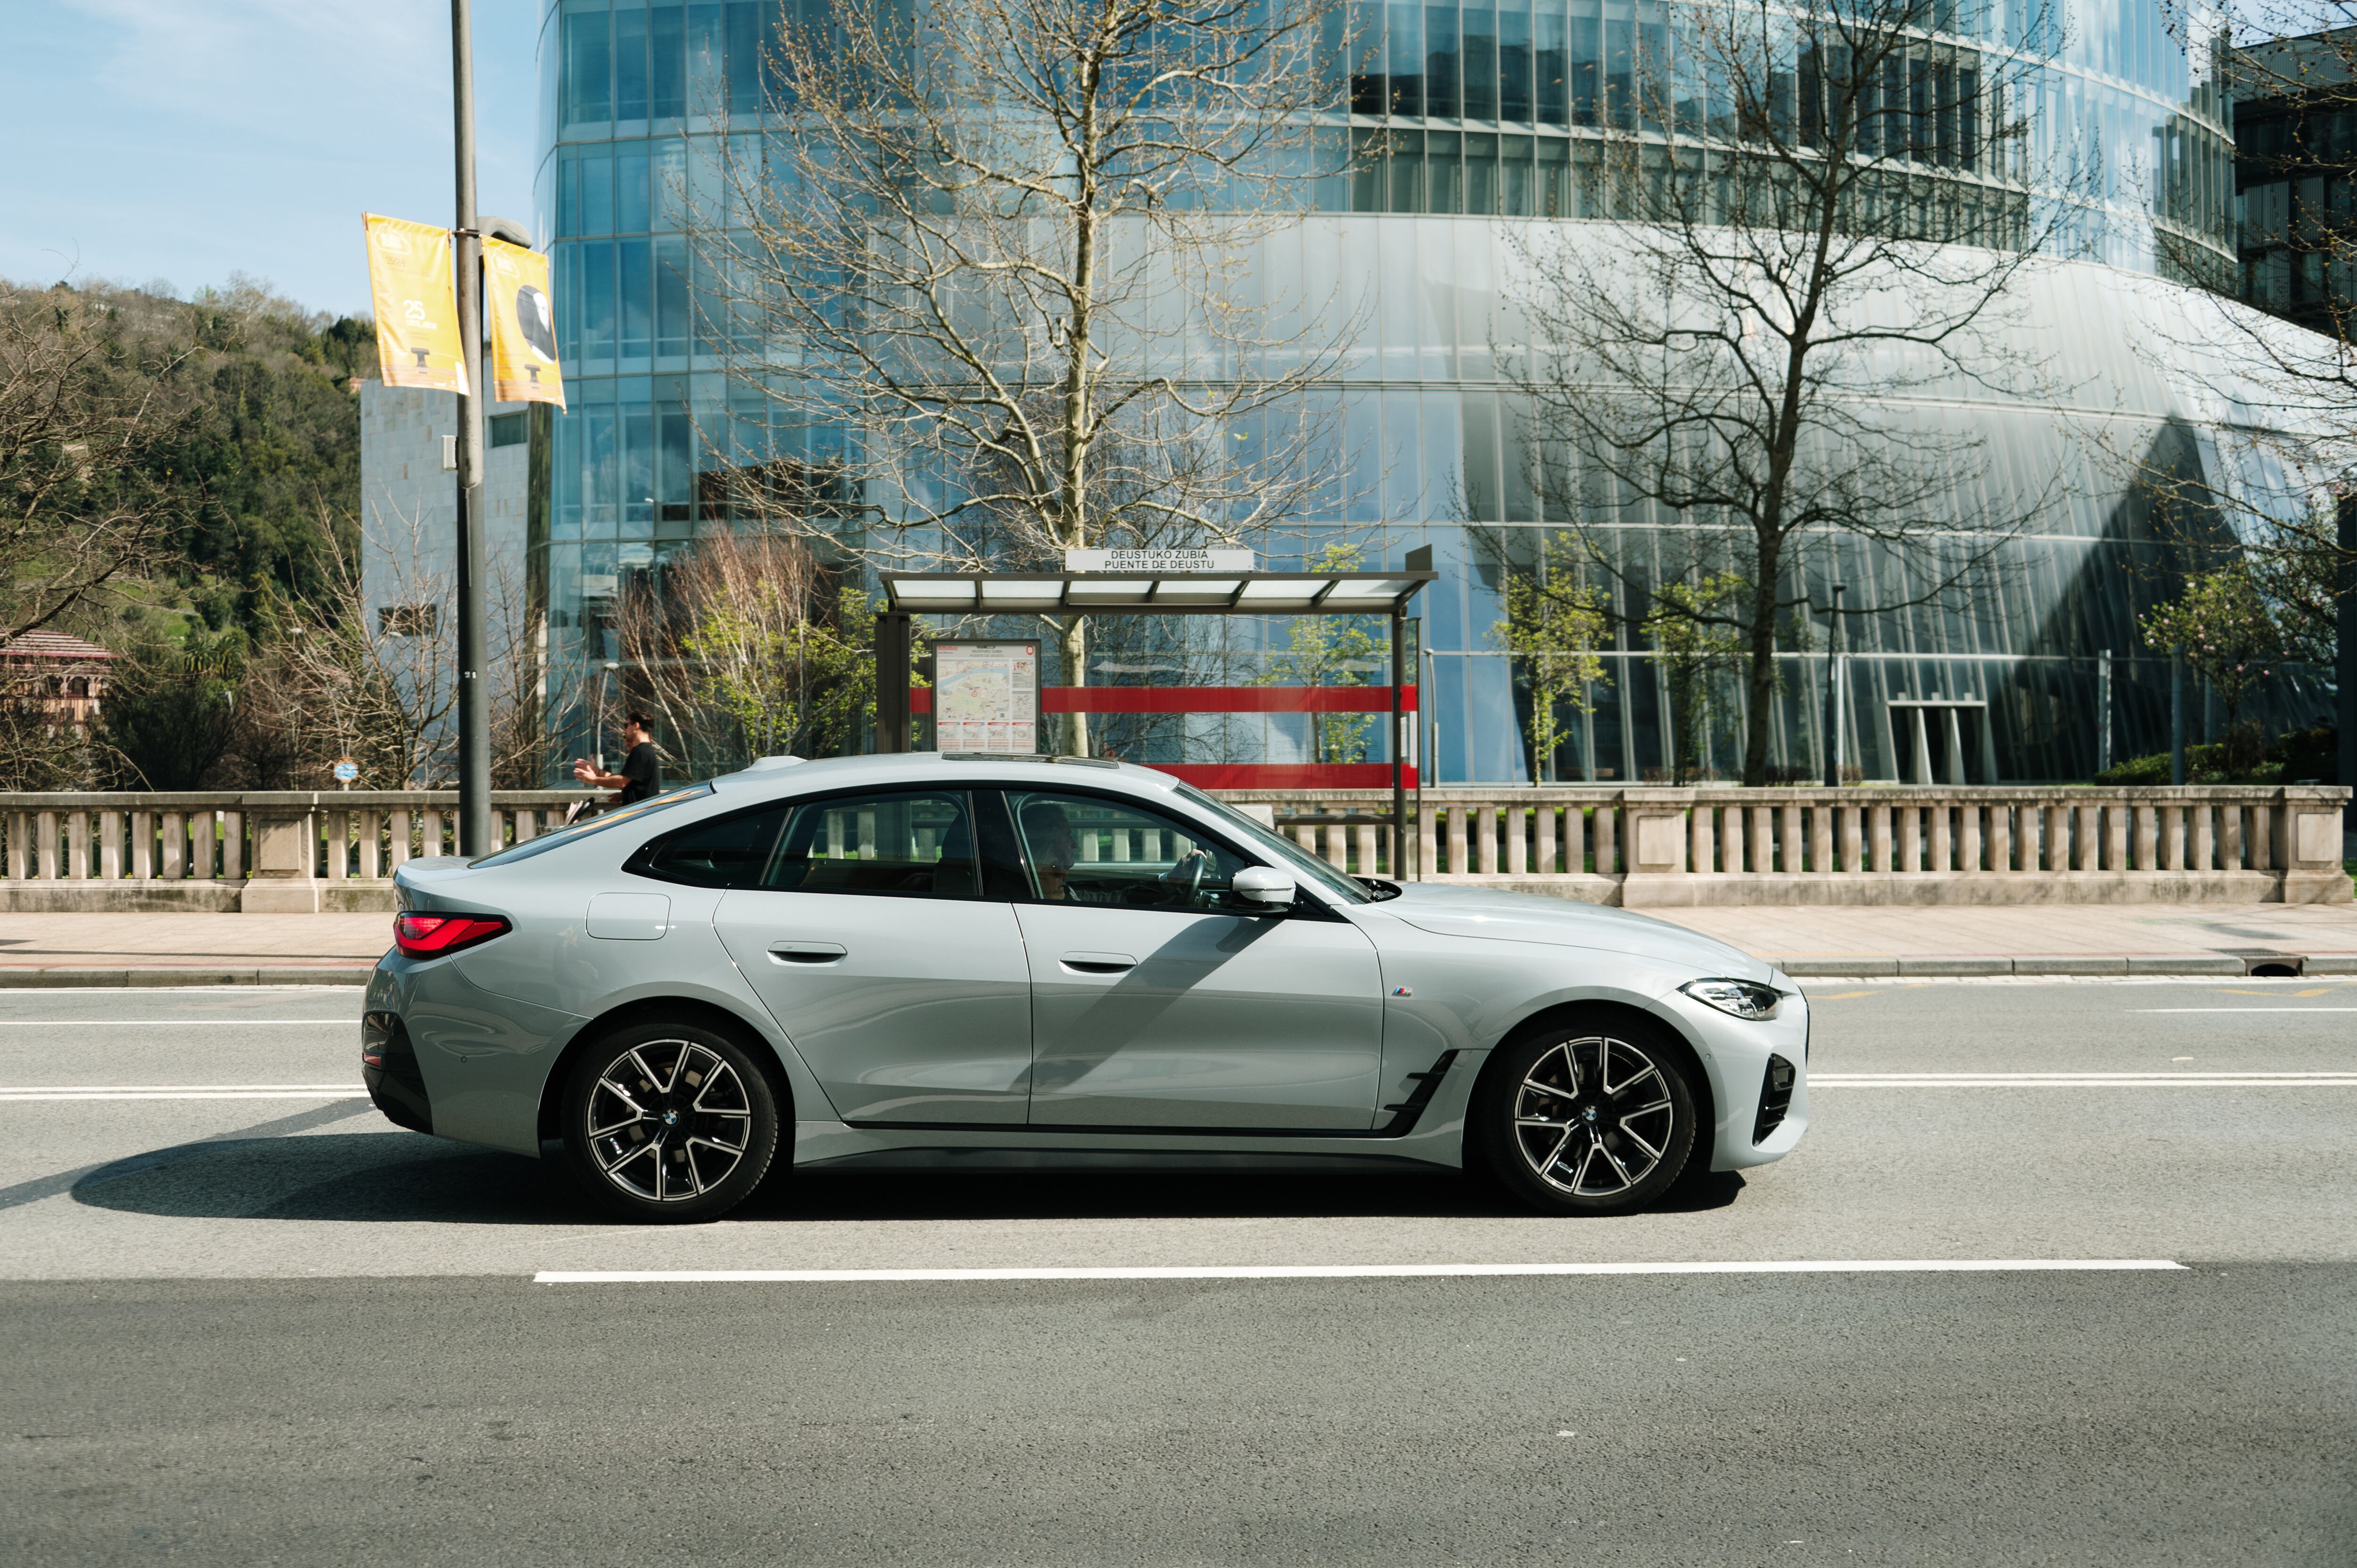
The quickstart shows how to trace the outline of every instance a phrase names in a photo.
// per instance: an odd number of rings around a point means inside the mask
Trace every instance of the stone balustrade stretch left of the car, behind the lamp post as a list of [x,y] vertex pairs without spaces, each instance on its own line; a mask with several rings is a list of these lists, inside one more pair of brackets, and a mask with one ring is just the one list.
[[[497,790],[500,842],[594,797]],[[0,795],[0,910],[391,910],[401,863],[455,835],[455,790]]]

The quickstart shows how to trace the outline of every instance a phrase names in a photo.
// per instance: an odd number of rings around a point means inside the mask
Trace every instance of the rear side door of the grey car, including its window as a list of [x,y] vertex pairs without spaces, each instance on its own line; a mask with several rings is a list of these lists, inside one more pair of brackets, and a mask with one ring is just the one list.
[[969,792],[865,790],[738,821],[735,846],[667,854],[733,861],[719,938],[834,1113],[1021,1125],[1030,971],[1014,905],[983,896]]

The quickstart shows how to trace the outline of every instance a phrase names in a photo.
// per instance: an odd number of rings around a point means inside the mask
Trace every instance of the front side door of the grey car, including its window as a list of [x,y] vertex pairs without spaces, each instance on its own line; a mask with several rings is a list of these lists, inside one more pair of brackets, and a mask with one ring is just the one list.
[[1009,790],[1035,1127],[1365,1129],[1384,983],[1322,905],[1244,913],[1247,856],[1117,797]]

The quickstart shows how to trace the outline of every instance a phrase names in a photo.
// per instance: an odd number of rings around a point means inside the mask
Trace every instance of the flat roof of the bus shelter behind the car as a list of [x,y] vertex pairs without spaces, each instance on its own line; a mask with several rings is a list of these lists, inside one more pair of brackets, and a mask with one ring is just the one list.
[[1435,571],[879,573],[907,615],[1395,615]]

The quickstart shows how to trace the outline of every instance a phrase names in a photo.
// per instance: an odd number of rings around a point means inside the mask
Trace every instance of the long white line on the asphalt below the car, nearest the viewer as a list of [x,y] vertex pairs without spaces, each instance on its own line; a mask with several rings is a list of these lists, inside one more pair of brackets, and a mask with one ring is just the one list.
[[1928,1257],[1758,1264],[1266,1264],[1207,1269],[542,1269],[535,1285],[856,1285],[891,1280],[1431,1280],[1598,1273],[2081,1273],[2185,1269],[2166,1257]]

